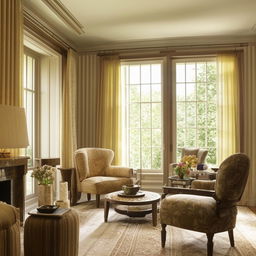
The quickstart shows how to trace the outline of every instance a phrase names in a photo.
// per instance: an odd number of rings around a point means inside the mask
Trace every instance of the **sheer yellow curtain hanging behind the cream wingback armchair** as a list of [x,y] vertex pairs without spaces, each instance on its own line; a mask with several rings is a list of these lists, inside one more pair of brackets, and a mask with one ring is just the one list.
[[102,57],[98,93],[99,147],[112,149],[114,164],[121,164],[121,85],[118,56]]

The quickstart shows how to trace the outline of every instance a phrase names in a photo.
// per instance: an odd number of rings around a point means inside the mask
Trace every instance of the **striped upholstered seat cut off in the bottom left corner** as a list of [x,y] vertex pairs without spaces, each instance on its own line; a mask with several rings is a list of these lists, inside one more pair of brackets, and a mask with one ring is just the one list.
[[19,210],[0,202],[0,255],[20,255]]

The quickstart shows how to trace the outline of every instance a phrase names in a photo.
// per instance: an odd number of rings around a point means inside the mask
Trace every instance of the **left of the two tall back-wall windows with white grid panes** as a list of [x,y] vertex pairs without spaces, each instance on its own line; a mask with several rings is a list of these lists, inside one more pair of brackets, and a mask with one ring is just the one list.
[[129,166],[162,168],[162,64],[123,63],[124,148]]

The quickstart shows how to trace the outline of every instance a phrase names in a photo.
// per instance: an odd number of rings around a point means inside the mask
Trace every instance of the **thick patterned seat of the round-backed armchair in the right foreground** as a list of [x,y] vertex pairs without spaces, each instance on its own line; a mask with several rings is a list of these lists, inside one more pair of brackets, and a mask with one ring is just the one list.
[[217,213],[214,198],[178,194],[161,202],[160,219],[167,225],[204,233],[218,233],[235,227],[236,207],[228,209],[225,218]]

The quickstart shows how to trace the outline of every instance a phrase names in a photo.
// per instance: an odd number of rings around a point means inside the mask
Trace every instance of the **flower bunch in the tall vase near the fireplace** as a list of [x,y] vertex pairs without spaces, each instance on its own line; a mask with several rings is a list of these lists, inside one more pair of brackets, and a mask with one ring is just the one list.
[[55,170],[55,167],[43,165],[42,167],[35,168],[31,177],[37,179],[39,185],[49,185],[53,183]]

